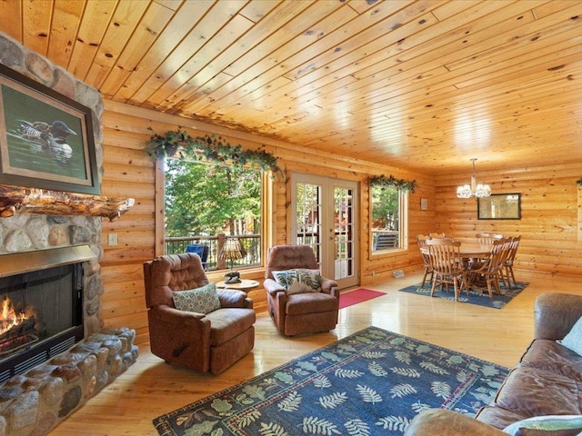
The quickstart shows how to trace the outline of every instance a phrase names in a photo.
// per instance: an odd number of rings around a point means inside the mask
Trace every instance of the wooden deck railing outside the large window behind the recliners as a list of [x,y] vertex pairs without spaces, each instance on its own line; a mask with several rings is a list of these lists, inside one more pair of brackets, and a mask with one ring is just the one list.
[[220,259],[220,252],[229,238],[238,238],[245,247],[245,258],[235,261],[234,267],[258,266],[261,264],[261,235],[260,234],[217,234],[216,236],[184,236],[165,239],[166,254],[186,253],[186,247],[191,243],[208,246],[208,259],[206,260],[206,271],[224,270],[230,268],[230,262],[226,263]]

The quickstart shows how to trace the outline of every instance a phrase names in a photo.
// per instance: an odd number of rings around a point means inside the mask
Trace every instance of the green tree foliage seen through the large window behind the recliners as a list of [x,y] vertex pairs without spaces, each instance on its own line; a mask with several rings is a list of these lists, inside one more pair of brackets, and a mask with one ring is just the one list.
[[260,221],[261,173],[166,160],[166,236],[235,231],[236,220]]

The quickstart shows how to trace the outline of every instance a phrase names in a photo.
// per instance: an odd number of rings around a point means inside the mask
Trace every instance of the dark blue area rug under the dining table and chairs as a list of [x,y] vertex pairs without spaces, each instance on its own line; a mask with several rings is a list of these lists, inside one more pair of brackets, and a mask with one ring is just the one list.
[[[493,309],[503,309],[503,307],[514,297],[516,297],[519,292],[522,292],[524,289],[526,289],[529,283],[517,282],[516,284],[516,287],[510,289],[505,289],[502,286],[501,295],[497,295],[497,293],[494,291],[493,300],[489,298],[487,288],[485,291],[470,290],[468,296],[467,292],[463,290],[463,292],[459,292],[458,294],[458,301],[468,302],[469,304],[477,304],[478,306],[491,307]],[[430,297],[430,285],[428,283],[426,283],[425,287],[422,289],[420,288],[420,284],[416,284],[414,286],[407,286],[400,291],[416,293],[418,295],[426,295],[427,297]],[[447,292],[446,290],[441,290],[440,287],[437,287],[437,289],[435,289],[435,298],[442,298],[444,300],[455,302],[455,289],[452,285],[450,285]]]

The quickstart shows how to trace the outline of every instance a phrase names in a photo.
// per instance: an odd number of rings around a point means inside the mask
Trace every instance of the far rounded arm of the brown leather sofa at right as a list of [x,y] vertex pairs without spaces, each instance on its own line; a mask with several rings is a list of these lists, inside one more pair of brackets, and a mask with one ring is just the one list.
[[563,339],[582,316],[582,295],[542,293],[534,306],[534,337]]

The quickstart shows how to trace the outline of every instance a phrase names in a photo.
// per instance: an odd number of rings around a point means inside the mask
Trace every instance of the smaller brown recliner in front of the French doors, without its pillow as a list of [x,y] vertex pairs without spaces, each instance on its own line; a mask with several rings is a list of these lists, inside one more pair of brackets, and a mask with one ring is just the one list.
[[322,278],[320,292],[287,294],[285,287],[276,282],[273,272],[292,269],[319,269],[310,246],[276,245],[269,250],[264,285],[268,311],[278,331],[294,336],[335,329],[339,311],[337,283]]

